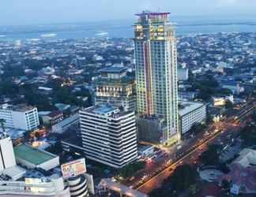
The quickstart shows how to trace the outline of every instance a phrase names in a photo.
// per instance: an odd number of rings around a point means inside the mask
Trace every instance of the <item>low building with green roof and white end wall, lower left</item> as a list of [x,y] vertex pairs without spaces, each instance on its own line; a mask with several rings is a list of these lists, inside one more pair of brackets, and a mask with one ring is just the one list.
[[59,165],[58,156],[33,148],[28,144],[20,144],[14,147],[14,154],[17,163],[26,166],[28,169],[50,170]]

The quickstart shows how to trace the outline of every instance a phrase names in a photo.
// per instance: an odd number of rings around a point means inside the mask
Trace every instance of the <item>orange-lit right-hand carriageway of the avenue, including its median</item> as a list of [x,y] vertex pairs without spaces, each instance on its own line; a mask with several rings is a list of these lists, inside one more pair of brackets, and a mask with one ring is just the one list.
[[238,131],[240,127],[238,124],[235,125],[234,123],[238,123],[239,120],[247,117],[247,115],[255,109],[255,106],[256,105],[253,101],[247,102],[247,104],[243,106],[243,108],[240,109],[239,112],[234,116],[236,117],[235,121],[233,121],[234,118],[228,118],[219,124],[216,124],[216,129],[214,129],[214,131],[209,129],[209,136],[200,139],[199,142],[195,143],[194,146],[190,147],[190,149],[185,151],[185,153],[179,154],[179,156],[176,158],[176,162],[172,163],[167,168],[161,170],[149,180],[145,181],[145,183],[140,184],[135,188],[148,194],[150,191],[152,191],[152,189],[160,187],[163,180],[171,175],[173,169],[175,169],[177,165],[181,165],[183,163],[193,164],[197,162],[198,156],[206,150],[209,144],[216,142],[220,143],[222,139],[225,139],[228,135],[232,135],[232,133]]

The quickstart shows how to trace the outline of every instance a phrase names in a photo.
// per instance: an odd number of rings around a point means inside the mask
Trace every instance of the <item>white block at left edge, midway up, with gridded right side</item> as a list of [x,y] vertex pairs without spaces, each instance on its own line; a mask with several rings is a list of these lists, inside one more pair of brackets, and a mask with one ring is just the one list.
[[40,125],[37,108],[33,106],[4,104],[0,106],[0,119],[5,120],[6,128],[19,128],[28,131]]

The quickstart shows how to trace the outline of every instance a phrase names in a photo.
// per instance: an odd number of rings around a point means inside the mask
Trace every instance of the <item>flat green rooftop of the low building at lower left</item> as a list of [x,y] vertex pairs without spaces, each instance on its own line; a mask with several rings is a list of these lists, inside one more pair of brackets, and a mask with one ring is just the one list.
[[21,158],[34,165],[40,165],[47,162],[56,156],[46,151],[40,151],[36,148],[30,147],[28,144],[20,144],[13,148],[15,157]]

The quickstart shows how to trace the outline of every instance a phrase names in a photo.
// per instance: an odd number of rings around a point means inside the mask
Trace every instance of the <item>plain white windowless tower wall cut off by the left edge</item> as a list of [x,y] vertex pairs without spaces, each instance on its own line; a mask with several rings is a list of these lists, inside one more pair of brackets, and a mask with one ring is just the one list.
[[13,143],[9,136],[0,134],[0,172],[16,165]]

